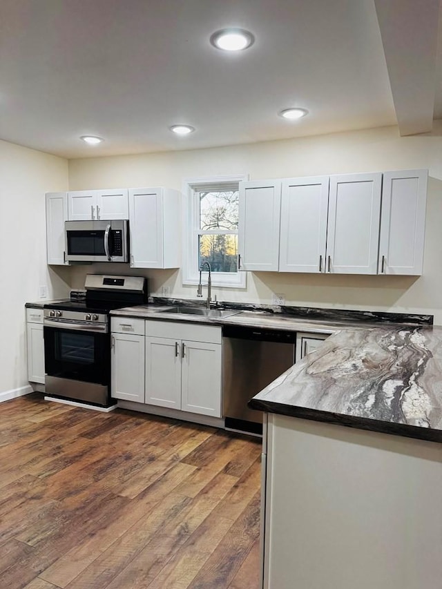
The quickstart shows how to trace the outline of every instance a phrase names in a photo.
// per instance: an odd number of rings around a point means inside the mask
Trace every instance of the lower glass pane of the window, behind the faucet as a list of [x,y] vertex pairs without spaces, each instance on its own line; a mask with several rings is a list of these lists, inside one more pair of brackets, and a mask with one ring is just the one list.
[[199,267],[209,262],[212,272],[238,272],[238,235],[200,235]]

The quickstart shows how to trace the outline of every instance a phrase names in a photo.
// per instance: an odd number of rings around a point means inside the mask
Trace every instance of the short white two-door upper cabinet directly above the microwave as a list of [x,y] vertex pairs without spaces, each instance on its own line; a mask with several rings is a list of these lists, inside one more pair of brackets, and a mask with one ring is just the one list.
[[127,189],[77,190],[68,193],[69,221],[128,219]]

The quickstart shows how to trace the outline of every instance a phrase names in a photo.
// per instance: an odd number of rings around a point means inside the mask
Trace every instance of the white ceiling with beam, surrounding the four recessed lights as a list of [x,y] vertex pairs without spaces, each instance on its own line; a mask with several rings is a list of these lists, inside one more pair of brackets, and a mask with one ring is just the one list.
[[[439,3],[0,0],[0,137],[73,158],[396,123],[425,133],[442,117]],[[213,48],[228,26],[253,46]],[[278,117],[291,106],[309,116]]]

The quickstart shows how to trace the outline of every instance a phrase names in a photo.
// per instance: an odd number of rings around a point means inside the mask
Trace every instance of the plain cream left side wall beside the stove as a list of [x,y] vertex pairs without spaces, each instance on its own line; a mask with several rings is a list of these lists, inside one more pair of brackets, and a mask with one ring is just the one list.
[[67,160],[0,141],[0,400],[28,385],[25,302],[40,285],[68,293],[68,273],[46,266],[45,222],[45,193],[67,184]]

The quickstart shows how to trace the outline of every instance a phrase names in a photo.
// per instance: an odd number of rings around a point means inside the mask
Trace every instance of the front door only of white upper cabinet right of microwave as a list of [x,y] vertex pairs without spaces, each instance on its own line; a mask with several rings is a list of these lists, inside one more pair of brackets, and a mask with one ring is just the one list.
[[162,217],[161,189],[129,190],[131,267],[163,267]]

